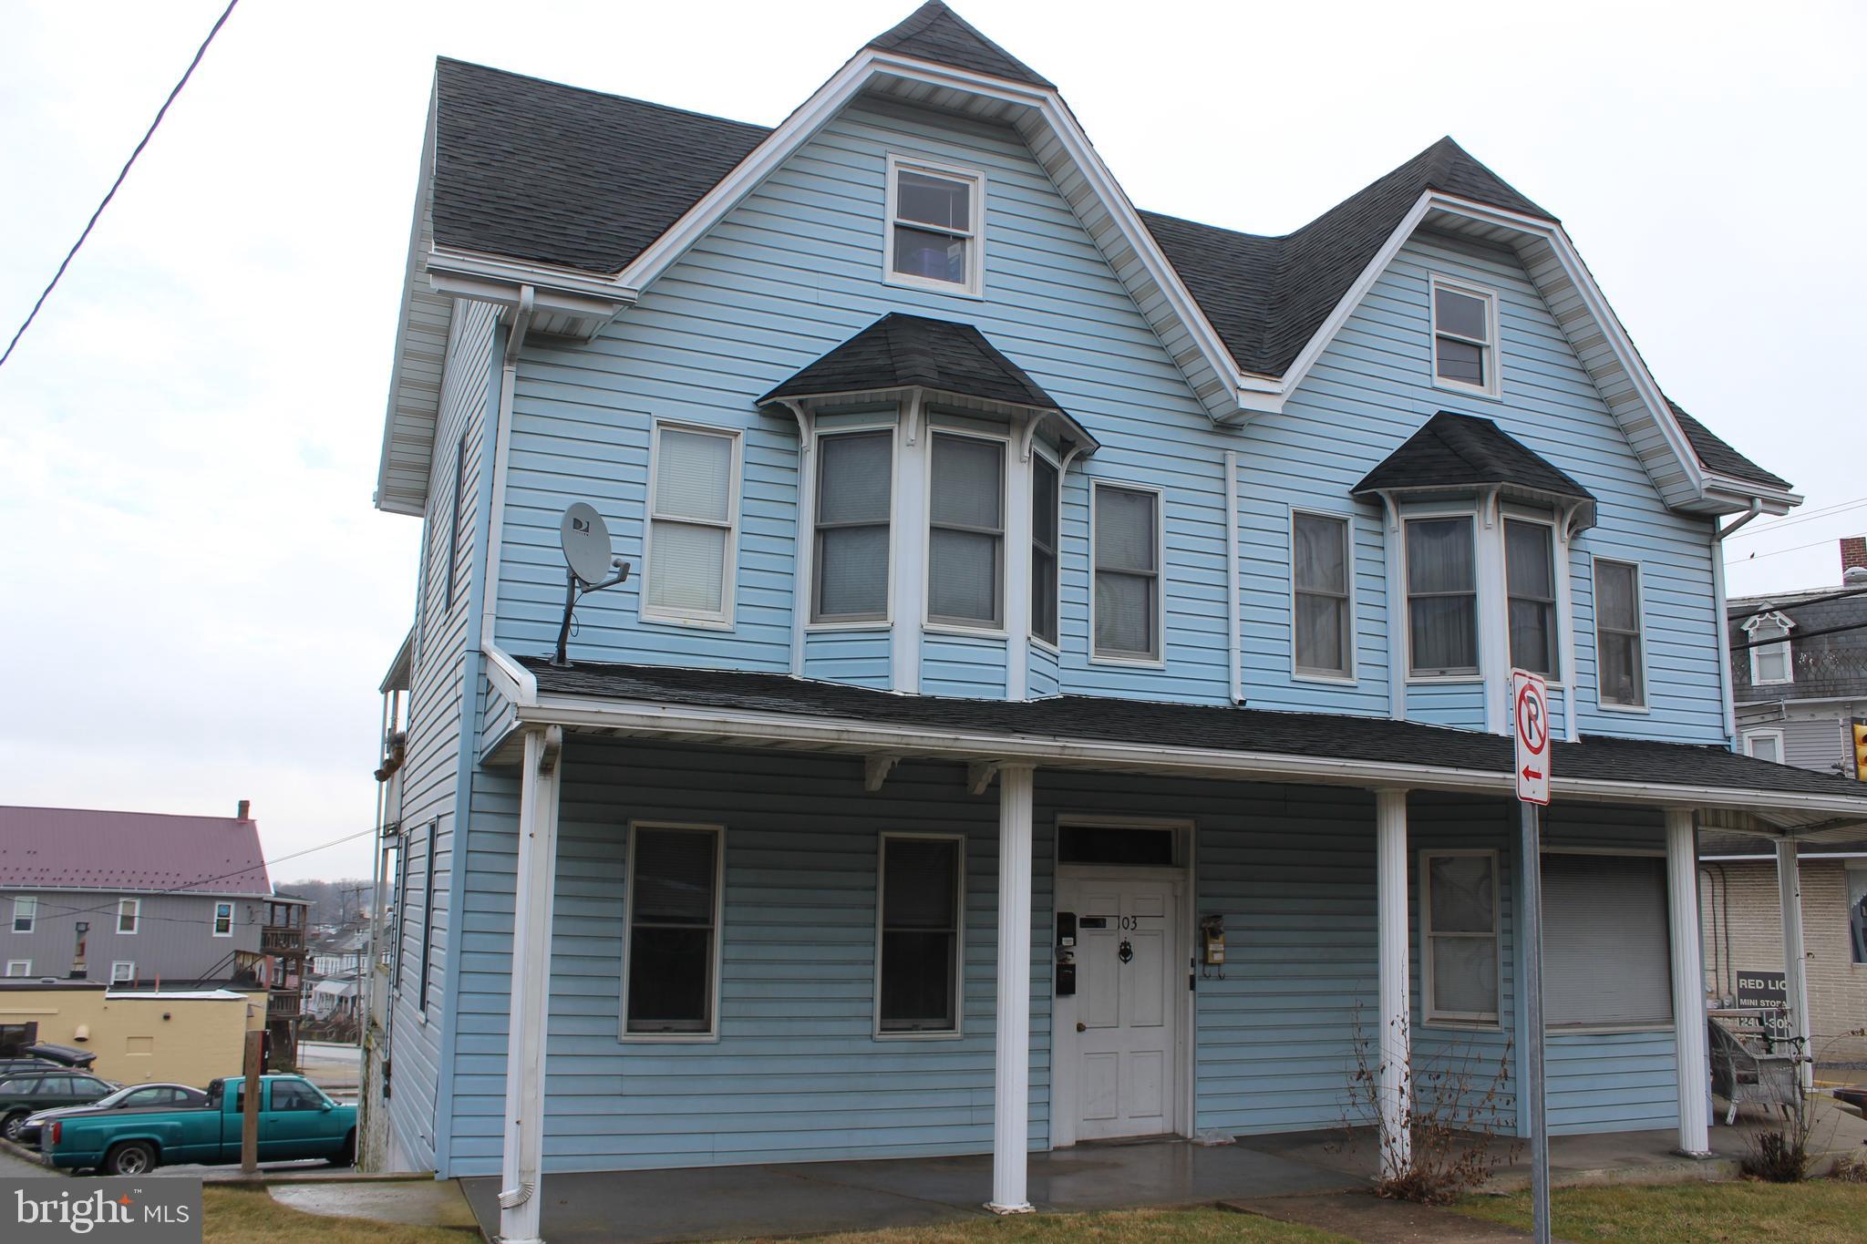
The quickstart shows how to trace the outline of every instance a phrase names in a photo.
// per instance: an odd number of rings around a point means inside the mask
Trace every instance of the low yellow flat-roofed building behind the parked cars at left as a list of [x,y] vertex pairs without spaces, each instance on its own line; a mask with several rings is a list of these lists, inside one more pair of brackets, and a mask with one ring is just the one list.
[[265,1028],[265,990],[112,990],[97,981],[0,981],[0,1026],[90,1050],[105,1080],[205,1087],[241,1074],[245,1035]]

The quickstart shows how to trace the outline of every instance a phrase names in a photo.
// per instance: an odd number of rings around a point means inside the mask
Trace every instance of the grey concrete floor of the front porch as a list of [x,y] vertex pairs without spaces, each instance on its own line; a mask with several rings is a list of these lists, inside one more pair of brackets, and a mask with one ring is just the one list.
[[[1867,1125],[1833,1113],[1835,1130],[1830,1134],[1824,1119],[1817,1145],[1861,1153]],[[1550,1145],[1551,1181],[1729,1179],[1744,1156],[1746,1132],[1759,1125],[1751,1112],[1734,1128],[1714,1127],[1710,1162],[1675,1154],[1678,1138],[1671,1130],[1557,1136]],[[1032,1153],[1029,1192],[1046,1212],[1253,1201],[1367,1188],[1374,1156],[1369,1134],[1348,1140],[1341,1130],[1247,1136],[1217,1147],[1077,1145]],[[1520,1160],[1503,1168],[1492,1186],[1518,1186],[1527,1173]],[[461,1188],[487,1238],[497,1235],[498,1181],[463,1179]],[[990,1154],[547,1175],[541,1233],[551,1244],[650,1244],[877,1231],[990,1216]]]

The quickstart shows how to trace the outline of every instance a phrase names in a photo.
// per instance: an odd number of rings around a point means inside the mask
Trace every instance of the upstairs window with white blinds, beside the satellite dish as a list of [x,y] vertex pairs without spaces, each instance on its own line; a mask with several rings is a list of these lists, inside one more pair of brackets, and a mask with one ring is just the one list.
[[739,433],[655,422],[642,617],[732,625]]

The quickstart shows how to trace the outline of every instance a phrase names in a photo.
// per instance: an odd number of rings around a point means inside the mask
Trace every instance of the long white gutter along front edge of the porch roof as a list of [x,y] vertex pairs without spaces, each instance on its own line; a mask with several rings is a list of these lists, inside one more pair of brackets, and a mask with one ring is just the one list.
[[[1449,765],[1404,765],[1268,752],[1223,752],[1217,748],[1167,748],[1137,742],[1094,742],[1034,735],[982,735],[960,731],[928,733],[907,726],[876,726],[849,718],[816,718],[782,712],[741,712],[695,709],[687,705],[588,699],[581,696],[540,696],[521,707],[528,726],[590,726],[624,733],[659,737],[730,737],[793,746],[831,746],[851,752],[905,752],[937,759],[1072,763],[1135,772],[1176,772],[1228,778],[1270,778],[1327,781],[1361,787],[1428,787],[1507,795],[1514,791],[1510,772],[1454,768]],[[1568,798],[1660,808],[1712,806],[1744,811],[1800,811],[1828,817],[1860,817],[1867,826],[1867,791],[1861,798],[1800,795],[1790,791],[1744,791],[1705,785],[1656,785],[1650,781],[1607,781],[1600,778],[1553,780],[1553,791]]]

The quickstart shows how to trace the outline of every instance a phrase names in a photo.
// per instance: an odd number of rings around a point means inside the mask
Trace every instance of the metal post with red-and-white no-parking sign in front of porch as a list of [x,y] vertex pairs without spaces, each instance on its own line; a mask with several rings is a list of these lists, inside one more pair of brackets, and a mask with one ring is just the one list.
[[1516,722],[1516,791],[1523,860],[1523,1100],[1529,1106],[1529,1188],[1537,1244],[1550,1244],[1550,1117],[1544,1102],[1542,1028],[1542,841],[1537,808],[1550,802],[1550,688],[1525,670],[1510,671]]

